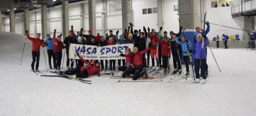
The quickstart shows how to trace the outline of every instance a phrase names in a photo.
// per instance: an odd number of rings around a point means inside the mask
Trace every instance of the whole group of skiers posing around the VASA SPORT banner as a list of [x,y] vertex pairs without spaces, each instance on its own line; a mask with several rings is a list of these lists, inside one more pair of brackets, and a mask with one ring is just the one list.
[[[195,47],[192,48],[191,41],[188,41],[186,37],[183,35],[181,36],[181,30],[182,26],[179,28],[179,33],[174,33],[173,31],[170,31],[170,37],[167,35],[167,31],[164,31],[164,36],[162,36],[162,28],[160,27],[159,32],[156,32],[155,30],[151,30],[148,27],[148,30],[146,30],[145,27],[143,27],[143,32],[141,30],[132,30],[132,23],[130,23],[130,26],[125,29],[125,33],[122,33],[118,37],[118,32],[116,32],[116,35],[113,35],[113,31],[110,30],[110,35],[108,33],[106,34],[106,38],[104,36],[100,36],[99,33],[97,33],[97,36],[92,35],[92,31],[88,31],[88,35],[83,35],[83,28],[80,29],[80,32],[77,32],[77,35],[73,32],[73,26],[71,27],[71,31],[69,31],[68,37],[65,37],[64,44],[60,41],[60,36],[55,38],[55,31],[54,31],[54,38],[50,38],[50,35],[46,35],[47,40],[44,42],[44,40],[40,40],[40,33],[37,33],[36,38],[29,37],[28,31],[27,38],[32,41],[32,71],[34,71],[34,64],[36,61],[36,70],[38,71],[39,67],[39,56],[40,56],[40,46],[45,47],[47,46],[48,50],[48,57],[49,57],[49,67],[51,67],[51,57],[54,57],[54,68],[60,69],[60,62],[61,62],[61,56],[62,56],[62,50],[65,48],[67,53],[67,70],[64,72],[64,74],[75,74],[75,76],[80,78],[86,78],[89,75],[97,74],[99,75],[100,65],[101,70],[104,69],[104,62],[101,60],[101,62],[98,62],[98,60],[91,60],[89,62],[88,60],[84,60],[82,57],[79,56],[79,53],[77,56],[80,60],[77,60],[76,66],[74,66],[74,60],[69,59],[69,45],[70,43],[77,43],[77,44],[83,44],[83,45],[93,45],[93,46],[108,46],[108,45],[120,45],[125,43],[133,43],[134,52],[132,53],[130,49],[126,50],[126,54],[120,54],[120,56],[126,57],[125,60],[117,60],[118,64],[118,70],[124,71],[122,74],[122,77],[125,78],[125,76],[133,74],[133,80],[137,80],[141,78],[142,76],[147,77],[147,73],[145,70],[143,70],[144,67],[149,67],[149,57],[151,57],[151,68],[160,70],[160,73],[167,73],[170,69],[170,56],[173,58],[173,66],[174,70],[173,73],[182,73],[182,67],[181,67],[181,57],[183,56],[184,62],[186,64],[186,74],[189,75],[189,59],[191,59],[191,54],[195,54],[195,72],[196,72],[196,81],[199,81],[200,72],[201,69],[201,75],[203,76],[203,82],[205,83],[205,79],[208,75],[208,66],[206,63],[207,58],[207,51],[206,46],[208,45],[208,38],[205,36],[210,31],[209,22],[206,22],[207,28],[204,32],[202,32],[200,27],[196,27],[196,33],[194,37],[194,44]],[[131,28],[131,30],[130,30]],[[202,36],[202,34],[204,35]],[[139,36],[138,36],[139,35]],[[204,41],[202,42],[202,38],[204,38]],[[203,47],[202,47],[203,43]],[[202,49],[203,48],[203,49]],[[202,56],[201,56],[201,49],[202,49]],[[146,53],[146,56],[145,56]],[[146,60],[147,57],[147,60]],[[125,62],[126,61],[126,62]],[[155,66],[155,61],[157,63],[157,66]],[[71,62],[69,64],[69,62]],[[95,65],[96,62],[96,65]],[[122,66],[121,66],[122,62]],[[84,66],[84,64],[88,64]],[[105,60],[105,70],[107,70],[107,64],[108,61]],[[163,65],[162,65],[163,64]],[[110,60],[110,70],[115,71],[115,65],[116,60]],[[178,65],[178,66],[177,66]],[[159,68],[160,67],[160,68]]]

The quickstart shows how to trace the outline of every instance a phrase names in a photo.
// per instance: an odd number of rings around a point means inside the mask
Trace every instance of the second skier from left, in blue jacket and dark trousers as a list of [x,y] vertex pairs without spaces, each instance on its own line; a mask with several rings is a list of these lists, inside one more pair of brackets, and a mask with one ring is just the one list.
[[50,37],[50,34],[46,34],[46,40],[45,40],[45,46],[47,46],[47,54],[48,54],[48,63],[49,63],[49,67],[50,69],[53,69],[53,67],[51,66],[51,57],[53,57],[53,65],[55,67],[56,64],[56,59],[54,57],[53,54],[53,47],[54,47],[54,41],[53,38]]

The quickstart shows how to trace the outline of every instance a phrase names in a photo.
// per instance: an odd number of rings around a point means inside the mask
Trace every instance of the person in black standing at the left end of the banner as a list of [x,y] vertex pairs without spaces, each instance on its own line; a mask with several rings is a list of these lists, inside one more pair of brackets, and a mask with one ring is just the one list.
[[[69,66],[69,45],[70,43],[77,43],[77,40],[73,37],[73,32],[69,31],[68,32],[68,37],[65,37],[64,40],[64,44],[66,44],[66,53],[67,53],[67,67]],[[72,59],[73,60],[73,59]],[[71,60],[71,69],[73,69],[74,66],[74,61]],[[68,70],[70,70],[70,68],[68,67]]]

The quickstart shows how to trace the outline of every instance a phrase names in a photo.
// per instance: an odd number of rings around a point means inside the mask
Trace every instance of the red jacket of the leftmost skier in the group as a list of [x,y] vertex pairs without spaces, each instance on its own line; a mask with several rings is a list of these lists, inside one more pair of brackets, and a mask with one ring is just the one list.
[[32,38],[29,36],[29,33],[27,33],[27,38],[29,38],[30,41],[32,41],[32,51],[40,51],[40,45],[42,47],[45,46],[45,43],[40,40],[40,38]]

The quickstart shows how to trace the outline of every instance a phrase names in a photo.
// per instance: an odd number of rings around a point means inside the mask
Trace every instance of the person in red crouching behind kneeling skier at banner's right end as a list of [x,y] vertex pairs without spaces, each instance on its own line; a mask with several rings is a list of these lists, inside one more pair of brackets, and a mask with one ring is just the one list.
[[132,55],[131,49],[130,48],[126,49],[126,55],[125,54],[120,54],[120,56],[125,57],[126,65],[118,67],[118,70],[125,71],[127,69],[127,67],[131,68],[131,63],[132,63],[132,60],[133,60],[133,57],[134,57]]

